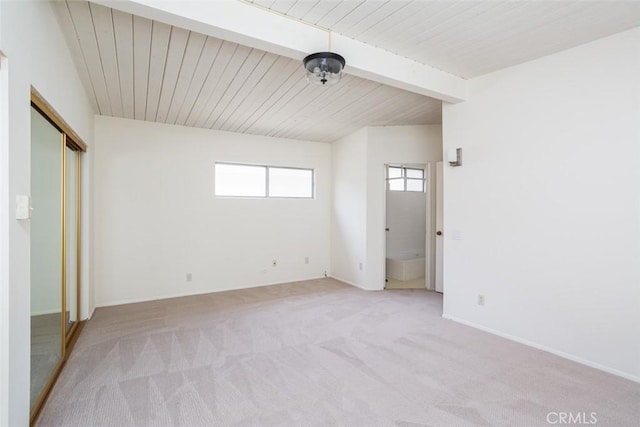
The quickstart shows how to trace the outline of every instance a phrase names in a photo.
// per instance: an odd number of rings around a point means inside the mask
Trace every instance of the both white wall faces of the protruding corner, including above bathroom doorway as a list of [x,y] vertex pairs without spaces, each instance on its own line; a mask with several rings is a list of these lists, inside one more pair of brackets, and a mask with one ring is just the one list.
[[384,289],[385,164],[441,160],[441,132],[438,125],[369,127],[332,144],[334,277]]

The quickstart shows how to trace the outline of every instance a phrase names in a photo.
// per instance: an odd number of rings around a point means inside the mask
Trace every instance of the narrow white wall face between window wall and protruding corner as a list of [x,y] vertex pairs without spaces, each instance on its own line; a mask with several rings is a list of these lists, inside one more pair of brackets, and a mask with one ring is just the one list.
[[365,287],[367,129],[331,145],[331,275]]

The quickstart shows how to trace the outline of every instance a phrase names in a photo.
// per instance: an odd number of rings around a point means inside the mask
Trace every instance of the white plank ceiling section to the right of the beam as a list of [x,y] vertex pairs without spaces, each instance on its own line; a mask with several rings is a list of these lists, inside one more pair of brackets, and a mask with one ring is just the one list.
[[637,0],[245,1],[464,78],[640,26]]

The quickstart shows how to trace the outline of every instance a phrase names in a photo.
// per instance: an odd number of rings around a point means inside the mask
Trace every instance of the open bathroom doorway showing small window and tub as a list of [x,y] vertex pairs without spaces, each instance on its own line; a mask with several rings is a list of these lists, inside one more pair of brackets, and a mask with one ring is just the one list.
[[429,166],[385,166],[385,289],[429,288]]

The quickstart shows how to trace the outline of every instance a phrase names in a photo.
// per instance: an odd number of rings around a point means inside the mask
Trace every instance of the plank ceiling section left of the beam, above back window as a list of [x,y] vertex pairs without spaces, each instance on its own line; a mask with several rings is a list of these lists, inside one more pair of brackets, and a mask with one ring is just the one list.
[[93,3],[55,7],[102,115],[325,142],[441,122],[440,101],[422,95],[349,75],[318,87],[300,61]]

